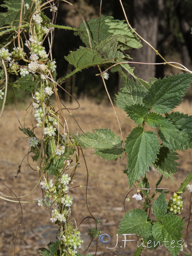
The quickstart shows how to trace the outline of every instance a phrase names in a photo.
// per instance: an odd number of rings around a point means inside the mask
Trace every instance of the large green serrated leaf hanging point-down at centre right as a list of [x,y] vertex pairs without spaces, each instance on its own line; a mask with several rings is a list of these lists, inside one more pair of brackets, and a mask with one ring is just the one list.
[[141,127],[132,130],[125,141],[125,152],[128,158],[128,178],[130,187],[149,172],[149,166],[155,162],[159,152],[159,141],[154,132],[144,132]]

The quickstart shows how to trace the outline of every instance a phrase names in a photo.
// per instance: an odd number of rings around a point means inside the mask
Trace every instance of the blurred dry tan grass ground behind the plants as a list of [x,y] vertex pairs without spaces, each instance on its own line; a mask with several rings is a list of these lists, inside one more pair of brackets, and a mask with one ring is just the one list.
[[[77,103],[67,104],[68,108],[76,108]],[[185,101],[181,104],[177,110],[189,113],[192,115],[191,103]],[[30,112],[30,110],[29,110]],[[81,126],[82,130],[93,132],[93,128],[99,129],[99,127],[110,128],[112,131],[120,135],[116,116],[108,104],[97,105],[90,100],[80,100],[80,108],[78,110],[71,110],[76,121]],[[123,110],[116,107],[116,112],[119,117],[119,121],[122,127],[124,140],[126,136],[134,126],[133,122],[126,117],[126,113]],[[27,113],[25,120],[23,116],[26,114],[24,107],[19,108],[18,115],[20,122],[25,127],[31,127],[30,113]],[[73,116],[69,115],[66,111],[66,120],[68,122],[70,132],[80,132],[79,127],[73,119]],[[4,194],[12,196],[12,191],[17,195],[26,195],[32,191],[38,181],[38,172],[32,170],[28,165],[27,158],[24,160],[21,173],[17,179],[14,176],[17,174],[18,166],[22,158],[28,152],[28,139],[22,139],[23,134],[18,129],[19,123],[15,115],[13,107],[7,107],[4,110],[2,119],[0,121],[0,156],[1,156],[1,173],[0,181],[4,185],[0,184],[0,191]],[[123,173],[126,166],[126,159],[118,159],[117,161],[106,162],[104,159],[100,159],[99,156],[91,156],[92,150],[84,151],[87,167],[89,170],[89,181],[87,202],[88,207],[95,218],[101,218],[101,224],[98,228],[102,233],[107,233],[111,236],[109,244],[101,244],[98,241],[98,252],[107,251],[106,247],[115,247],[116,233],[118,230],[118,224],[120,219],[124,215],[124,197],[129,191],[129,186],[126,178],[126,174]],[[163,179],[161,186],[177,190],[180,183],[185,179],[187,174],[192,169],[192,151],[187,150],[180,153],[180,166],[179,172],[174,175],[175,182],[170,182],[170,179]],[[29,157],[30,158],[30,157]],[[33,167],[36,164],[32,163]],[[154,170],[147,173],[148,180],[151,182],[151,187],[155,186],[156,181],[159,179],[160,174]],[[76,170],[75,185],[86,185],[87,172],[84,164],[83,157],[80,157],[80,164]],[[11,190],[6,188],[8,186]],[[134,194],[132,192],[131,196]],[[72,189],[70,195],[74,197],[72,219],[75,217],[77,225],[86,216],[90,216],[90,213],[86,207],[85,201],[85,188]],[[130,196],[130,198],[131,198]],[[38,185],[34,191],[28,196],[23,197],[22,201],[37,200],[42,197],[40,185]],[[167,196],[167,199],[170,195]],[[181,217],[188,216],[189,206],[189,192],[183,195],[185,200],[185,207],[181,213]],[[142,207],[141,204],[132,199],[129,203],[126,202],[126,211],[133,208]],[[22,224],[20,225],[16,247],[16,256],[35,256],[39,255],[38,248],[46,247],[50,239],[54,239],[56,234],[56,228],[54,224],[50,222],[50,214],[44,207],[37,206],[37,203],[22,203],[22,214],[20,205],[18,203],[12,203],[0,199],[0,256],[12,256],[14,253],[14,241],[19,227],[22,216]],[[87,218],[80,226],[80,231],[84,239],[82,249],[86,249],[90,242],[90,238],[87,233],[89,228],[94,227],[94,221],[91,218]],[[183,232],[184,236],[186,230]],[[192,228],[189,225],[187,244],[189,250],[192,250]],[[126,255],[133,255],[135,251],[136,241],[127,242],[124,249],[124,244],[121,241],[123,236],[119,236],[118,245],[115,249],[111,249],[111,252],[105,252],[103,255],[114,255],[114,253],[122,253]],[[127,239],[137,239],[136,236],[130,236]],[[92,243],[88,252],[95,251],[96,241]],[[130,252],[130,253],[129,253]],[[143,256],[147,255],[170,255],[164,247],[158,248],[156,251],[144,250]],[[183,255],[180,253],[180,255]]]

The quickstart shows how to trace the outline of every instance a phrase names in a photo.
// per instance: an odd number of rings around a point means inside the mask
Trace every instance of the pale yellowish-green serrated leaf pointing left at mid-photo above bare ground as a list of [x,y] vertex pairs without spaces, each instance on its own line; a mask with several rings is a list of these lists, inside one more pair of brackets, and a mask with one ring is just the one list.
[[95,155],[107,160],[117,159],[124,153],[122,148],[122,140],[110,129],[100,128],[94,129],[93,132],[85,132],[84,134],[72,134],[72,137],[83,148],[94,148]]

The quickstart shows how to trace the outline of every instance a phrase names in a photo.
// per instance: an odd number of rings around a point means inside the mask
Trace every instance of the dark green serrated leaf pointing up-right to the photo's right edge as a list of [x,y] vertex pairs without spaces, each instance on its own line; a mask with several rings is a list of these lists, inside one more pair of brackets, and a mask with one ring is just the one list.
[[180,104],[190,83],[192,74],[176,74],[158,79],[148,90],[144,103],[159,114],[170,112]]

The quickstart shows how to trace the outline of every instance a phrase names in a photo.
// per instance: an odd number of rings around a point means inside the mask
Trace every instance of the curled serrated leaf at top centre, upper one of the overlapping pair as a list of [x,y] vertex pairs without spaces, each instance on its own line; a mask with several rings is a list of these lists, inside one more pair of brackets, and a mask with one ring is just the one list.
[[[92,18],[89,22],[85,21],[85,23],[89,31],[89,35],[85,28],[84,22],[82,22],[80,25],[80,29],[83,32],[75,32],[75,35],[79,35],[87,47],[93,47],[94,44],[100,43],[110,35],[118,35],[117,40],[122,45],[122,50],[139,48],[142,46],[140,42],[137,41],[137,36],[133,34],[129,26],[124,23],[124,20],[113,20],[113,17],[101,15],[100,18]],[[91,45],[89,42],[89,37],[91,40]]]

